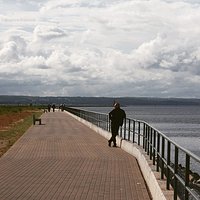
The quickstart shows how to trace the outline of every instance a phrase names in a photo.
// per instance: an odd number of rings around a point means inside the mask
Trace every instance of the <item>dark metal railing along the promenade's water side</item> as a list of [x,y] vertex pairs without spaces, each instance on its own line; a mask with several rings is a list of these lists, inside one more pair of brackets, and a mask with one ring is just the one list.
[[[110,121],[107,114],[96,113],[76,108],[66,110],[83,118],[96,126],[110,131]],[[200,158],[180,145],[170,140],[163,133],[148,123],[126,118],[119,135],[124,140],[136,143],[143,147],[152,160],[161,179],[166,180],[166,189],[173,188],[174,200],[200,199],[200,177],[192,172],[191,162],[195,168],[200,167]],[[199,179],[198,179],[199,177]]]

